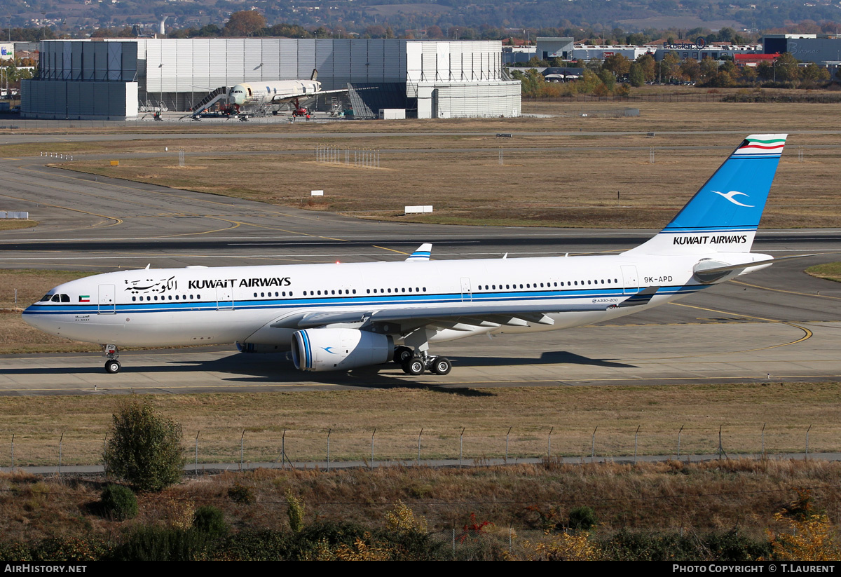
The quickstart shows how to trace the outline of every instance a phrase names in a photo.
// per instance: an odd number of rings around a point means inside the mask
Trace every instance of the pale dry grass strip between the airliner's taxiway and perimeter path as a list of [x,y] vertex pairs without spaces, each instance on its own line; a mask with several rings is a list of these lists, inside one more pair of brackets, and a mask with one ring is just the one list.
[[[15,436],[15,464],[56,464],[63,434],[62,462],[98,463],[116,399],[108,395],[0,398],[0,439]],[[357,389],[341,392],[224,393],[157,395],[161,413],[182,424],[185,457],[199,463],[278,460],[286,431],[287,458],[325,461],[331,432],[331,460],[412,462],[458,458],[466,463],[505,456],[552,455],[588,460],[592,433],[598,457],[677,451],[716,453],[718,430],[728,455],[836,451],[841,424],[839,384],[735,384],[662,387],[561,387],[521,389]],[[373,429],[376,428],[376,433]],[[463,438],[462,436],[462,429]],[[244,433],[244,437],[243,437]],[[10,465],[8,450],[0,466]]]

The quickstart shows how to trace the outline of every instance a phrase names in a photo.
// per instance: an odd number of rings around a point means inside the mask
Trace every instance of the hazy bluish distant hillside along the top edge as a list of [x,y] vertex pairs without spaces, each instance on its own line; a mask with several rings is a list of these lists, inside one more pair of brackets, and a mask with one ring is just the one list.
[[[167,16],[167,29],[221,27],[230,13],[251,7],[267,24],[300,24],[332,33],[366,34],[371,26],[385,26],[394,34],[418,34],[437,26],[445,37],[458,29],[472,29],[476,37],[501,37],[523,29],[564,30],[582,36],[587,31],[645,29],[774,29],[812,21],[841,22],[841,8],[828,0],[438,0],[411,3],[383,0],[0,0],[3,13],[13,14],[13,27],[48,26],[56,33],[83,35],[103,27],[153,26]],[[5,24],[5,23],[3,23]],[[452,32],[455,30],[455,32]]]

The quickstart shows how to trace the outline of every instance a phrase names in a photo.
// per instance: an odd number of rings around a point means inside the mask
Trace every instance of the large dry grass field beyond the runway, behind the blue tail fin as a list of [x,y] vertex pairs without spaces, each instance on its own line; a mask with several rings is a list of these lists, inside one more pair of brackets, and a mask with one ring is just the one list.
[[[564,115],[357,123],[346,130],[362,132],[352,138],[341,130],[326,131],[325,126],[335,124],[313,124],[307,130],[297,124],[269,125],[262,130],[299,136],[225,138],[225,131],[245,124],[237,123],[222,126],[219,139],[57,143],[51,150],[111,155],[59,165],[72,170],[363,218],[657,228],[742,135],[814,130],[789,138],[762,226],[834,226],[841,219],[836,191],[841,140],[820,133],[828,118],[841,112],[841,104],[638,103],[639,117],[617,119],[575,115],[581,109],[616,109],[615,103],[530,106],[542,114]],[[258,131],[257,126],[249,130]],[[694,132],[669,134],[676,130]],[[738,134],[717,134],[725,130]],[[484,134],[471,134],[479,131]],[[488,134],[512,131],[526,134],[513,139]],[[648,131],[654,136],[639,134]],[[631,132],[636,134],[626,134]],[[355,167],[352,150],[348,164],[344,153],[340,163],[316,162],[318,145],[379,150],[380,167]],[[161,153],[163,146],[169,146],[170,156],[124,157]],[[186,167],[178,167],[172,152],[179,147],[188,154]],[[3,154],[33,154],[35,148],[15,146]],[[119,167],[109,166],[112,157],[119,157]],[[323,199],[309,198],[309,190],[316,188],[325,190]],[[404,216],[407,204],[432,204],[435,212]]]

